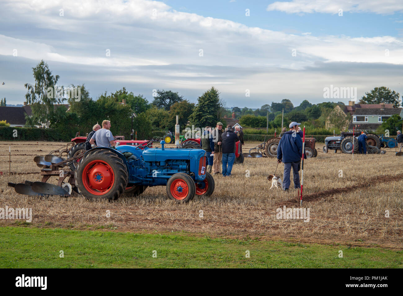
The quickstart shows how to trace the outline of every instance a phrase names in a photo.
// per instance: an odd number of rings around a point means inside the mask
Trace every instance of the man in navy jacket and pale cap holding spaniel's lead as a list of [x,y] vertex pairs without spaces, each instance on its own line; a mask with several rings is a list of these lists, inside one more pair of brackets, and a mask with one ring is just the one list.
[[284,163],[284,175],[283,175],[283,189],[287,191],[290,184],[291,168],[293,168],[294,175],[294,188],[299,188],[299,173],[298,165],[301,162],[302,157],[302,139],[300,132],[298,132],[298,126],[301,125],[295,121],[289,125],[290,130],[284,132],[283,137],[280,139],[277,148],[277,162]]

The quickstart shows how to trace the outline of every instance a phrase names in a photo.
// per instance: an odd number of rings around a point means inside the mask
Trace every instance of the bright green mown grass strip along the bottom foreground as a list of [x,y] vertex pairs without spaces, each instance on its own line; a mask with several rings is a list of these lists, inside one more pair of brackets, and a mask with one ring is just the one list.
[[376,247],[0,227],[1,268],[401,268],[402,262],[403,251]]

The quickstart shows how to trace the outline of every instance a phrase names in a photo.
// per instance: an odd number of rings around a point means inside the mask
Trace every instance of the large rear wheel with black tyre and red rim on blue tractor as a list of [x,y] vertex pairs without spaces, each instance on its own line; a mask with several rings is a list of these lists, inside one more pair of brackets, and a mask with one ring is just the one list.
[[125,192],[129,175],[116,153],[97,149],[86,153],[76,170],[76,184],[88,199],[118,199]]

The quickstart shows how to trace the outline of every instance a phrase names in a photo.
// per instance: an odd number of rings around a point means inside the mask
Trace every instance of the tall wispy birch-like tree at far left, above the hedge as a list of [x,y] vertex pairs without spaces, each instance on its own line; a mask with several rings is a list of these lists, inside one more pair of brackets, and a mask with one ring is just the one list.
[[52,75],[48,64],[41,60],[35,68],[32,68],[35,85],[25,83],[27,94],[25,99],[31,104],[32,116],[30,122],[33,125],[46,124],[49,127],[50,113],[53,111],[53,104],[62,103],[64,98],[57,95],[48,95],[48,89],[56,93],[56,85],[59,75]]

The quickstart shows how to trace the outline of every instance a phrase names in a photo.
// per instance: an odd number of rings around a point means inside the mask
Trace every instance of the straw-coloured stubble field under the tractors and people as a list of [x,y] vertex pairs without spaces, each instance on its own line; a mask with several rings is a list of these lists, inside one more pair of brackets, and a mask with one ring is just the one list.
[[[396,157],[395,149],[382,149],[387,151],[385,155],[352,158],[339,152],[325,154],[323,144],[317,144],[318,157],[305,160],[304,165],[303,207],[310,209],[310,220],[304,222],[276,218],[277,208],[299,207],[299,202],[292,180],[288,193],[269,190],[271,184],[266,176],[274,173],[277,164],[272,158],[245,159],[242,165],[234,165],[232,177],[214,177],[216,188],[211,197],[195,196],[193,201],[182,205],[168,199],[163,186],[147,188],[138,197],[121,197],[112,202],[88,201],[82,197],[29,197],[7,186],[7,182],[39,181],[40,169],[33,157],[46,155],[62,144],[0,142],[0,172],[3,172],[0,207],[32,208],[30,225],[40,228],[183,231],[195,236],[403,249],[403,157]],[[257,142],[245,143],[243,152],[256,145]],[[283,164],[278,166],[277,175],[283,176]],[[54,178],[53,183],[56,182]],[[15,226],[17,222],[1,219],[0,225]]]

